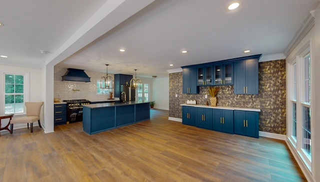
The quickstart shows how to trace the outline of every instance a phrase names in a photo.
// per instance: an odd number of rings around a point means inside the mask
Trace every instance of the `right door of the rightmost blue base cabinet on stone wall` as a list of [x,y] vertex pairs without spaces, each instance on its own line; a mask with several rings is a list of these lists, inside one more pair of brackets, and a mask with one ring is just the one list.
[[245,135],[248,137],[259,138],[259,113],[246,111],[246,130]]

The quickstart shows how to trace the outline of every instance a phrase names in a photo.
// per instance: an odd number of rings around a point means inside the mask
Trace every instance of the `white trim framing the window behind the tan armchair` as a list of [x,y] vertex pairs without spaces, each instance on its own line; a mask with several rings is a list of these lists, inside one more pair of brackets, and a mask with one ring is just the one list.
[[[30,97],[30,89],[29,89],[29,85],[30,85],[30,73],[29,72],[16,72],[16,71],[0,71],[0,80],[1,83],[0,84],[0,103],[1,103],[1,109],[0,112],[4,113],[4,74],[20,74],[23,75],[23,92],[24,92],[24,96],[23,96],[23,107],[25,102],[29,102],[29,97]],[[23,109],[23,113],[15,113],[15,116],[20,116],[20,115],[25,115],[25,108]]]

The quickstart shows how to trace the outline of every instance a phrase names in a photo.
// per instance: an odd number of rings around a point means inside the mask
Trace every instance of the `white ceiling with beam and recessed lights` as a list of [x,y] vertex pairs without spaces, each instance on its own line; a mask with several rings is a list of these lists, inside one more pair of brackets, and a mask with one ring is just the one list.
[[8,58],[0,64],[101,73],[109,64],[108,73],[166,77],[185,65],[283,54],[319,2],[236,0],[239,8],[226,10],[231,1],[1,0],[0,55]]

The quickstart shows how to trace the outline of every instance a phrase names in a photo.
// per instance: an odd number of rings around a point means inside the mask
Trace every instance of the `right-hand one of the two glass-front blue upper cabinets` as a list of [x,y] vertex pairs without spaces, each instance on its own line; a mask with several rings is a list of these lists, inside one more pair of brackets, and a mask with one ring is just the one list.
[[213,85],[233,85],[233,62],[213,65]]

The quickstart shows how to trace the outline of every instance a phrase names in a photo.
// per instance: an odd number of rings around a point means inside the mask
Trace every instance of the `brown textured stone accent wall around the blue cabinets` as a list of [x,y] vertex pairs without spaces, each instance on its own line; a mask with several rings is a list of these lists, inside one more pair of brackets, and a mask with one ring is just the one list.
[[[259,62],[259,94],[233,94],[233,85],[221,86],[217,106],[260,109],[259,131],[285,135],[285,76],[285,59]],[[207,86],[200,86],[199,94],[182,94],[182,72],[169,74],[169,117],[182,118],[180,104],[186,100],[204,105],[209,97]]]

